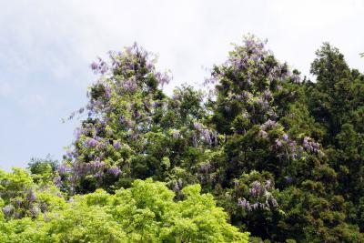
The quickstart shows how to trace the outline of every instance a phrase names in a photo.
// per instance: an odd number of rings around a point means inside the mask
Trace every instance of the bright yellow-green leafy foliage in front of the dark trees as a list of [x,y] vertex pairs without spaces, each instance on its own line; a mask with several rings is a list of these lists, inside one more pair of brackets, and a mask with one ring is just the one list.
[[68,200],[25,170],[2,171],[0,183],[1,242],[248,242],[199,185],[184,187],[176,202],[173,191],[151,179],[113,195],[97,189]]

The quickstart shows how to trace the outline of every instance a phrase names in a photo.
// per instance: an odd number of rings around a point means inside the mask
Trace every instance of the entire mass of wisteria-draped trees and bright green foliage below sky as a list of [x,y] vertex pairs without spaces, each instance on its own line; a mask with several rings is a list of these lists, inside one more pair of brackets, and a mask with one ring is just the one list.
[[4,238],[364,241],[363,74],[324,43],[302,80],[265,45],[234,46],[208,94],[167,96],[136,44],[97,59],[62,163],[1,172]]

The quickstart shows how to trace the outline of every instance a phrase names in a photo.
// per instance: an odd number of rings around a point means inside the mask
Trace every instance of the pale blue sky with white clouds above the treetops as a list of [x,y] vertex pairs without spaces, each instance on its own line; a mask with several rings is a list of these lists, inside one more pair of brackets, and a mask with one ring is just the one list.
[[268,39],[281,62],[309,75],[323,42],[364,72],[362,0],[0,0],[0,167],[26,167],[31,157],[60,160],[96,81],[90,64],[136,41],[170,70],[165,87],[203,88],[243,35]]

